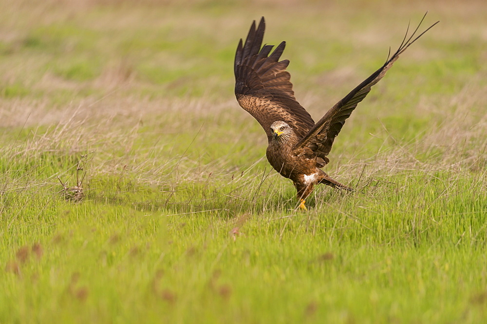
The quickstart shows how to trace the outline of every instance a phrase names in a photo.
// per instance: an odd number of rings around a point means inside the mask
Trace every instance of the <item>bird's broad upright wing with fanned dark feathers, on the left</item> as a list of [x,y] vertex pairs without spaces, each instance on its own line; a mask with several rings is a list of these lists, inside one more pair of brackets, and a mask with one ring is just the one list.
[[267,138],[272,138],[270,126],[281,120],[291,126],[299,138],[315,125],[306,110],[294,97],[289,60],[279,61],[285,42],[269,55],[273,45],[262,46],[265,21],[262,17],[257,30],[255,20],[243,45],[240,39],[235,53],[235,95],[240,106],[261,124]]

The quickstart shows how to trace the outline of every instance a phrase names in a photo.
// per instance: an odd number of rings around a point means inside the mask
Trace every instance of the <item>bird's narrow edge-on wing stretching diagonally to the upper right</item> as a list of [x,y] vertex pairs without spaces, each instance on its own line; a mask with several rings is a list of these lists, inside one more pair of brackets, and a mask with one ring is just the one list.
[[[399,46],[399,49],[393,54],[391,58],[387,59],[387,61],[384,63],[384,65],[380,67],[380,69],[375,71],[371,76],[369,76],[365,81],[360,83],[348,95],[338,101],[338,103],[333,106],[333,108],[331,108],[323,116],[323,118],[318,121],[318,123],[316,123],[316,125],[309,131],[309,133],[307,133],[295,145],[294,149],[296,154],[302,154],[309,158],[320,157],[324,160],[324,164],[328,163],[329,160],[326,156],[330,153],[333,141],[343,127],[343,124],[345,124],[345,120],[350,117],[350,114],[352,114],[357,104],[362,101],[365,96],[370,92],[371,87],[375,85],[375,83],[379,82],[379,80],[386,74],[387,70],[391,68],[394,61],[399,57],[400,54],[404,52],[416,39],[420,38],[424,33],[430,30],[431,27],[439,22],[435,22],[433,25],[430,26],[430,28],[421,33],[421,35],[411,40],[425,17],[426,14],[423,19],[421,19],[421,22],[419,23],[414,33],[412,33],[411,37],[407,40],[406,38],[408,36],[408,32],[406,32],[406,36]],[[320,167],[324,166],[324,164],[320,165]]]

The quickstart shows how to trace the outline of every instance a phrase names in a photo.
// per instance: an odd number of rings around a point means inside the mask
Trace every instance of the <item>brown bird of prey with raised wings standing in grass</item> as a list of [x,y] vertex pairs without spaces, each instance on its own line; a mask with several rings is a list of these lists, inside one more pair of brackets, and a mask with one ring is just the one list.
[[321,168],[329,162],[328,154],[333,141],[357,104],[386,74],[400,54],[438,23],[412,39],[425,17],[426,14],[409,38],[406,32],[397,51],[377,71],[338,101],[317,123],[294,96],[290,74],[286,71],[289,60],[279,60],[286,42],[281,42],[272,53],[273,45],[262,46],[265,31],[263,17],[257,29],[253,21],[245,43],[240,39],[234,63],[237,101],[257,119],[267,134],[267,160],[277,172],[293,181],[301,210],[306,210],[305,199],[317,184],[352,191]]

